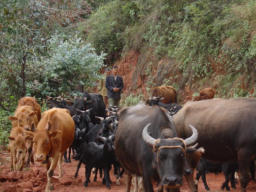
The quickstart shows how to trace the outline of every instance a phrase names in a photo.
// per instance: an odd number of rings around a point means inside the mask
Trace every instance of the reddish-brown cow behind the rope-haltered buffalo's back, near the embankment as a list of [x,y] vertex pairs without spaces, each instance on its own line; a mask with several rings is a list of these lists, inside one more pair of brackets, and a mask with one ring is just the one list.
[[[164,104],[178,103],[177,92],[172,86],[163,85],[163,86],[153,88],[151,92],[151,96],[149,98],[159,97],[159,96],[164,98],[161,100],[161,102]],[[149,99],[143,98],[143,100],[146,101]]]

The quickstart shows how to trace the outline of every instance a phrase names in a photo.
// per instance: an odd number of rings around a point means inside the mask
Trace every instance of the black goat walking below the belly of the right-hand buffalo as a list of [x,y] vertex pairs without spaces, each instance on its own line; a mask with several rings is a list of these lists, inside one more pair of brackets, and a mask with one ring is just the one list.
[[226,180],[222,184],[221,189],[223,190],[224,188],[226,188],[227,191],[230,191],[230,188],[228,186],[229,176],[230,176],[231,187],[236,189],[236,184],[235,184],[235,182],[236,182],[235,171],[237,168],[236,162],[217,163],[217,162],[212,162],[210,160],[200,157],[198,165],[199,165],[200,170],[198,173],[196,173],[196,182],[195,182],[196,187],[197,187],[198,180],[200,179],[200,177],[202,175],[204,187],[206,190],[210,191],[210,188],[208,187],[208,185],[206,183],[205,171],[215,172],[215,173],[223,171]]

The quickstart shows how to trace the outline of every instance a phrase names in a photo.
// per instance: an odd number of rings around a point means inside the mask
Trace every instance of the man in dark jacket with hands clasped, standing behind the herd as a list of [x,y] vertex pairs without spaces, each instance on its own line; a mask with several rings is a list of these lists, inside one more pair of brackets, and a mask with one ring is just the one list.
[[123,78],[117,75],[117,66],[113,67],[113,74],[107,76],[105,87],[108,89],[108,104],[112,106],[119,106],[121,99],[121,91],[124,88]]

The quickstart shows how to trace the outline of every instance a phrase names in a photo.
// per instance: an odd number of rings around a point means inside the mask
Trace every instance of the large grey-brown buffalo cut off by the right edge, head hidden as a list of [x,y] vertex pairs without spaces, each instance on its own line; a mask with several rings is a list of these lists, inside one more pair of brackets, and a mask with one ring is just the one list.
[[188,101],[173,118],[181,138],[191,135],[188,124],[197,128],[203,157],[212,161],[238,161],[241,192],[249,181],[250,160],[256,156],[256,99],[219,98]]

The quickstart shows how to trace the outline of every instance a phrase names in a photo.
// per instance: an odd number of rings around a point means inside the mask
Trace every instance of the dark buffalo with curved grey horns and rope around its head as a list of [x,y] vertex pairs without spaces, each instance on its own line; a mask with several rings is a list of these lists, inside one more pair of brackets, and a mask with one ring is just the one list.
[[[192,172],[185,166],[187,158],[191,161],[191,168],[195,169],[204,152],[202,148],[188,148],[198,137],[196,129],[191,125],[189,127],[193,135],[180,140],[173,120],[165,109],[149,107],[143,102],[122,109],[119,112],[115,146],[117,159],[126,171],[126,187],[131,186],[132,177],[129,175],[137,174],[142,176],[147,192],[153,192],[151,180],[159,182],[159,191],[163,188],[180,188],[184,172],[188,175]],[[194,192],[193,175],[188,175],[186,178]]]

